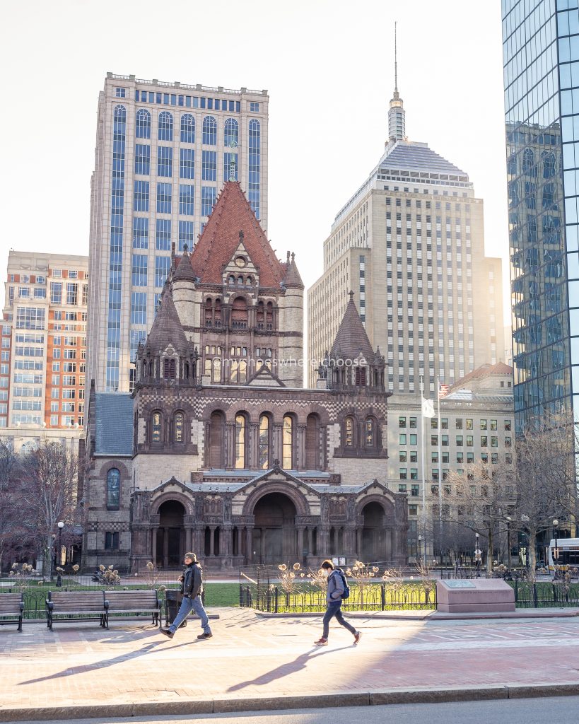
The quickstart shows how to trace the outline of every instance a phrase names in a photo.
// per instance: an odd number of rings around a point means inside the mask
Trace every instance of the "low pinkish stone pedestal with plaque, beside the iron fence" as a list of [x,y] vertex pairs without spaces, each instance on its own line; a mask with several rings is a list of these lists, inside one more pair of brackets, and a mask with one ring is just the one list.
[[515,592],[502,578],[436,581],[436,601],[441,613],[515,610]]

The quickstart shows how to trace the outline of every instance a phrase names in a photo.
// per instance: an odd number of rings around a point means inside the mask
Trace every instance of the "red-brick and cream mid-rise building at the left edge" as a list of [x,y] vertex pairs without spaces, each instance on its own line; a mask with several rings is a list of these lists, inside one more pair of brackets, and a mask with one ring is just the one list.
[[4,286],[0,428],[78,431],[85,414],[88,258],[10,251]]

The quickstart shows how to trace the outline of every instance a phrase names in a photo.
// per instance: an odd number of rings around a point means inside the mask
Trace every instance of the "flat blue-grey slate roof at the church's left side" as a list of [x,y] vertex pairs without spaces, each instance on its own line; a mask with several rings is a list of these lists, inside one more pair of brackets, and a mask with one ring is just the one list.
[[95,393],[95,455],[132,455],[133,405],[128,392]]

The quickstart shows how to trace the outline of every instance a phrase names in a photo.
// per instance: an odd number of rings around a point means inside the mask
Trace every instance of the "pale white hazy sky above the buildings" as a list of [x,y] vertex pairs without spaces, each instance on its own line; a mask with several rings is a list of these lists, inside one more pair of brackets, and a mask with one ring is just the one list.
[[507,307],[499,0],[2,2],[0,269],[9,248],[88,253],[110,70],[269,90],[267,232],[278,256],[295,251],[308,287],[335,214],[384,150],[394,20],[407,135],[468,172],[484,199]]

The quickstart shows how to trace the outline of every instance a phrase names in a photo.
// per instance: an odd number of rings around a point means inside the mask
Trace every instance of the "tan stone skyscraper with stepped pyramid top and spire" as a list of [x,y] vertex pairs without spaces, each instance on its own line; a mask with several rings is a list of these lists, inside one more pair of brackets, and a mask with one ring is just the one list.
[[352,290],[387,387],[426,395],[504,355],[502,269],[484,254],[483,201],[468,174],[407,140],[396,88],[389,141],[340,209],[324,242],[324,274],[308,290],[309,384]]

